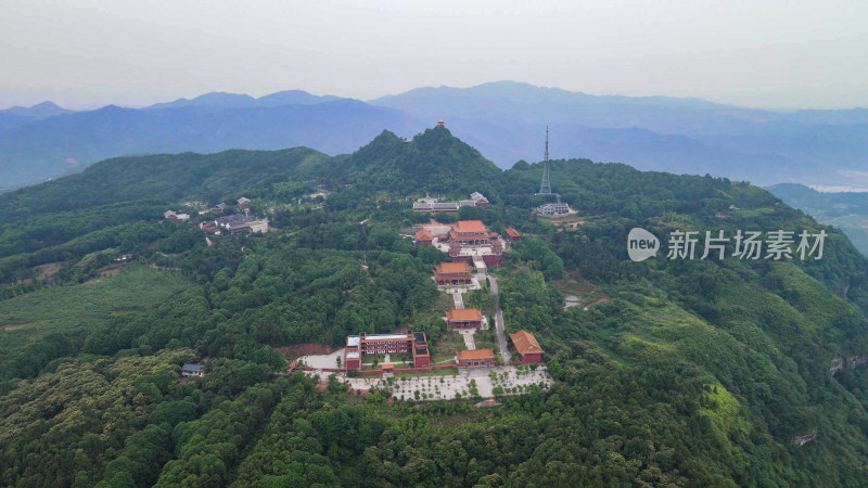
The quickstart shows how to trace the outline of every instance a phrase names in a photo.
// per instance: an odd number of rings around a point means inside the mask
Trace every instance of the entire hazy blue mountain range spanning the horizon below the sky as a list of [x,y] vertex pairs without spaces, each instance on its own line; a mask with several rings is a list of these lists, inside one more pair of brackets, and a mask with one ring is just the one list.
[[144,108],[110,105],[77,113],[51,102],[12,107],[0,111],[0,187],[120,155],[297,145],[352,152],[383,129],[412,136],[441,118],[501,168],[541,159],[549,125],[556,158],[760,184],[868,184],[868,174],[859,172],[868,162],[868,110],[779,113],[500,81],[419,88],[367,103],[290,90],[258,99],[215,92]]

